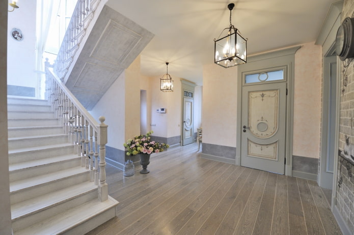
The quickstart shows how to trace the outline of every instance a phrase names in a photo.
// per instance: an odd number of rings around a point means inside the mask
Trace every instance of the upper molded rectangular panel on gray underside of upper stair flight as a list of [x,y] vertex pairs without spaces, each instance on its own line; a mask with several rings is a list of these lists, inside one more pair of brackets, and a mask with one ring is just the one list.
[[119,65],[124,62],[130,51],[142,38],[143,36],[110,19],[93,48],[90,57]]

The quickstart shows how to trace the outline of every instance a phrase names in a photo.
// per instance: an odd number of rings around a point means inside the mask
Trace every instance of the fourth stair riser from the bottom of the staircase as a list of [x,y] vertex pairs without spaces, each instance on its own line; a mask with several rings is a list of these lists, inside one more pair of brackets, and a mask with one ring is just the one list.
[[26,169],[10,171],[10,182],[36,177],[59,170],[65,170],[71,167],[81,166],[81,157],[65,160],[62,162],[53,162],[46,165],[34,166]]

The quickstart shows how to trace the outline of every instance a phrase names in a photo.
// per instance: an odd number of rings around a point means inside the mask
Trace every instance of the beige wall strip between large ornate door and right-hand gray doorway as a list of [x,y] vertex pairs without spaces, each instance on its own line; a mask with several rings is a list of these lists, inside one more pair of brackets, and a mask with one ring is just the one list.
[[322,47],[302,44],[295,53],[293,155],[319,158]]

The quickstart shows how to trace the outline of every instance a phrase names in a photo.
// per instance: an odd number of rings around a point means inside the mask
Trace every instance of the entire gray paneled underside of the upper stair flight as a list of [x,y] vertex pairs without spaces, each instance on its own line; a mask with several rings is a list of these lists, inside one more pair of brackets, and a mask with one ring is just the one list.
[[77,61],[73,62],[65,85],[86,109],[91,110],[153,36],[104,6]]

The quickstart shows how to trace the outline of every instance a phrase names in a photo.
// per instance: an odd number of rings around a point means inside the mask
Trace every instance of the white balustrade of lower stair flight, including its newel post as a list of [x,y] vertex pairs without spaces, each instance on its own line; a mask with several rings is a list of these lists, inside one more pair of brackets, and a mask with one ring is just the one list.
[[104,201],[108,198],[105,172],[107,143],[105,118],[100,116],[99,124],[51,71],[49,63],[46,62],[45,65],[48,102],[63,126],[63,133],[68,135],[69,142],[74,145],[74,154],[81,157],[81,166],[90,170],[90,181],[97,185],[99,200]]

